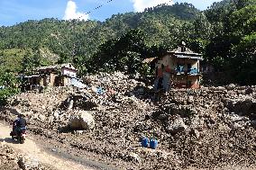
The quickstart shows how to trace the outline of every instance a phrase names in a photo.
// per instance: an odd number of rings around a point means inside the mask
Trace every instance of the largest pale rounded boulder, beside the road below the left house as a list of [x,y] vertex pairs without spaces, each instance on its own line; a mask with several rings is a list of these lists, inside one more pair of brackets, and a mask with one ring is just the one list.
[[95,127],[95,119],[92,114],[86,111],[78,111],[71,114],[69,127],[75,130],[91,130]]

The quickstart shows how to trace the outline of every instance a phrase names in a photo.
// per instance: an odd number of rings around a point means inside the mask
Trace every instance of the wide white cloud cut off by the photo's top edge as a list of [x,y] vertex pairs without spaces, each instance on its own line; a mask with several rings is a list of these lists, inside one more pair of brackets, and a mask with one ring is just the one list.
[[173,4],[172,0],[132,0],[135,12],[143,12],[145,8],[158,4]]

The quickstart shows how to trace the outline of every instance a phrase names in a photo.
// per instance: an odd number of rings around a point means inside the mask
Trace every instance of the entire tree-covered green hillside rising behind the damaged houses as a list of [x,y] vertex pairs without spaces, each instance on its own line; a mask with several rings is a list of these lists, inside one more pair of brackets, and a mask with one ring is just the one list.
[[[224,0],[200,12],[192,4],[159,5],[118,13],[105,22],[44,19],[0,28],[0,69],[73,62],[79,73],[141,69],[142,58],[181,40],[233,83],[256,83],[255,0]],[[253,78],[254,77],[254,78]],[[227,78],[228,79],[228,78]]]

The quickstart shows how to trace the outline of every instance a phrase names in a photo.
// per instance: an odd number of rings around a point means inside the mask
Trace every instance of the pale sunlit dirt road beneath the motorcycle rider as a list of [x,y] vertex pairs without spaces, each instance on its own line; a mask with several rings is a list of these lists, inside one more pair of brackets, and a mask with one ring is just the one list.
[[11,128],[3,123],[0,123],[0,141],[16,150],[19,150],[25,155],[39,160],[42,164],[49,165],[57,170],[73,169],[73,170],[92,170],[92,168],[79,165],[77,162],[64,160],[59,157],[54,157],[44,152],[32,138],[25,140],[24,144],[18,144],[10,138]]

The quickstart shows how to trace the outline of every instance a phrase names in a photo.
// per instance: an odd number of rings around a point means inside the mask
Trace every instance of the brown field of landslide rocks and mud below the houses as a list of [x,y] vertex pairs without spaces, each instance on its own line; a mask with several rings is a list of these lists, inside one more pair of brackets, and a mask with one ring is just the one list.
[[[154,93],[123,73],[83,78],[87,88],[55,87],[16,95],[10,105],[27,115],[31,130],[90,152],[125,169],[214,168],[256,163],[256,86],[202,87]],[[14,115],[5,109],[1,119]],[[73,131],[76,112],[93,128]],[[159,140],[142,148],[142,137]]]

